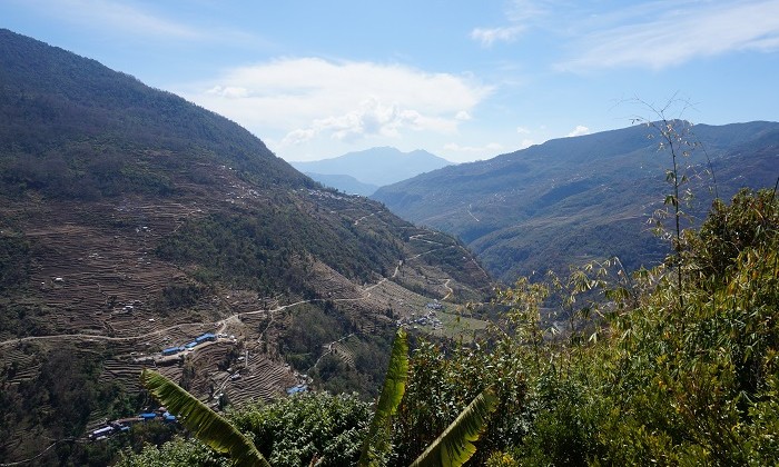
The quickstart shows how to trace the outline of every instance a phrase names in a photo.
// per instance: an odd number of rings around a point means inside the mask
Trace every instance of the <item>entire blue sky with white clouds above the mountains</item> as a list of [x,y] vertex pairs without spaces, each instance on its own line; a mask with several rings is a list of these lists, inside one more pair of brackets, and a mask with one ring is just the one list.
[[288,161],[453,162],[635,118],[779,120],[779,0],[0,0],[0,28],[247,128]]

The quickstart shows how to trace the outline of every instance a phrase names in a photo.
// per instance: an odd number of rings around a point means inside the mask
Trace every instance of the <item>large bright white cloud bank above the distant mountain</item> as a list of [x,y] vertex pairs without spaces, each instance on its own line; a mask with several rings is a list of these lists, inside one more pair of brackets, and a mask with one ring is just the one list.
[[278,135],[280,146],[322,137],[397,137],[404,130],[453,133],[492,92],[467,77],[317,58],[236,68],[183,88],[187,99],[260,138]]

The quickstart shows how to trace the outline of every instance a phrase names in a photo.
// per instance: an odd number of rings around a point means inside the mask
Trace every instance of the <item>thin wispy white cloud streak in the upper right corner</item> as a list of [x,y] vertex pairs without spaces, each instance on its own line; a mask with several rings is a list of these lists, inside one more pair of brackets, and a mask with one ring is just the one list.
[[[651,16],[649,20],[642,20]],[[586,33],[578,57],[561,70],[642,67],[662,69],[696,57],[731,51],[779,50],[779,0],[734,2],[655,1]]]

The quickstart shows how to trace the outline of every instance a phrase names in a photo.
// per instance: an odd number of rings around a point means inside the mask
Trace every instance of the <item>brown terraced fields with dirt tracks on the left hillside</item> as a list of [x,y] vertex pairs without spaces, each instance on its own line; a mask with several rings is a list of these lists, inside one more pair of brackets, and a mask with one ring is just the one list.
[[[125,197],[97,203],[0,205],[0,217],[7,220],[0,226],[3,235],[23,235],[31,251],[30,286],[4,301],[26,314],[20,321],[23,329],[0,327],[0,368],[6,368],[7,390],[19,391],[24,381],[39,379],[40,356],[67,347],[98,357],[98,381],[115,382],[129,395],[139,390],[140,370],[155,367],[215,406],[220,400],[267,400],[285,395],[286,388],[312,382],[303,370],[288,365],[280,346],[304,306],[329,310],[344,326],[342,335],[313,349],[309,357],[318,361],[335,356],[354,368],[355,346],[371,336],[391,336],[398,318],[418,312],[432,299],[464,302],[483,292],[427,261],[452,251],[467,258],[464,268],[469,261],[475,265],[461,246],[433,231],[389,226],[405,231],[403,254],[369,282],[356,284],[314,261],[305,279],[315,298],[265,297],[255,290],[215,287],[186,307],[166,307],[166,288],[197,281],[186,266],[156,255],[160,240],[193,218],[265,201],[228,168],[217,169],[217,175],[221,186],[228,187],[225,191],[206,193],[200,186],[180,181],[186,195],[164,200]],[[397,222],[357,197],[317,190],[295,196],[312,212],[336,212],[345,223],[366,232]],[[472,269],[469,274],[481,274]],[[204,332],[220,337],[191,350],[161,355],[162,349],[184,346]],[[108,416],[105,408],[95,409],[89,426],[105,423]],[[26,449],[27,445],[20,438],[8,446]]]

